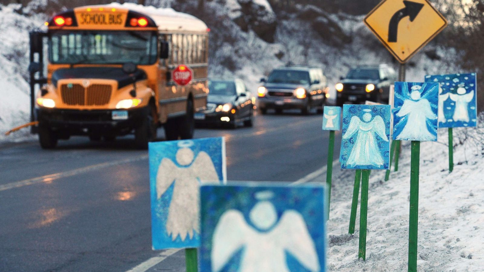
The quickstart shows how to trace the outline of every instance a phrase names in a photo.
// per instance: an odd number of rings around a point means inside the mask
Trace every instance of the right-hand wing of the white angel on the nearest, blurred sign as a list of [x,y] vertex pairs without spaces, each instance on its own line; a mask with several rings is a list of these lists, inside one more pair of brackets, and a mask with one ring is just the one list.
[[281,216],[273,230],[275,237],[292,256],[309,271],[321,270],[316,245],[314,244],[302,215],[294,210],[287,210]]

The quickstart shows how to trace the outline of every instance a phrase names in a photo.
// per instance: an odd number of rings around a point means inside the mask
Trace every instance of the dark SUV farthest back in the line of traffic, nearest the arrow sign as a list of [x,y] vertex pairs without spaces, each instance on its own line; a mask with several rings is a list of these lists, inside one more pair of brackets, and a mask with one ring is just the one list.
[[388,104],[390,85],[396,80],[396,73],[386,64],[359,66],[341,79],[335,86],[336,105],[341,106],[348,101],[364,103],[366,100]]

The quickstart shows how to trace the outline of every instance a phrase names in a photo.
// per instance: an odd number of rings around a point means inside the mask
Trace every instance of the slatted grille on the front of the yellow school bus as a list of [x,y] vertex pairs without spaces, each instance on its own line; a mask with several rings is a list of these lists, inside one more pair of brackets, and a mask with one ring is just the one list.
[[[69,88],[70,87],[70,88]],[[93,84],[84,88],[80,84],[62,84],[62,102],[71,106],[102,106],[109,103],[111,85]]]

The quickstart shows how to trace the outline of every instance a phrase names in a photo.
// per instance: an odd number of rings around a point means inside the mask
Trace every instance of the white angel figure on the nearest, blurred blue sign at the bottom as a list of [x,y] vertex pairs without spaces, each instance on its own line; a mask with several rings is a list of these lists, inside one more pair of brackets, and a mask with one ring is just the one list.
[[311,272],[319,272],[316,246],[302,215],[286,210],[279,222],[274,205],[267,199],[271,191],[258,192],[249,219],[242,212],[228,210],[222,214],[212,238],[212,272],[219,272],[234,253],[243,248],[239,272],[289,272],[286,252]]

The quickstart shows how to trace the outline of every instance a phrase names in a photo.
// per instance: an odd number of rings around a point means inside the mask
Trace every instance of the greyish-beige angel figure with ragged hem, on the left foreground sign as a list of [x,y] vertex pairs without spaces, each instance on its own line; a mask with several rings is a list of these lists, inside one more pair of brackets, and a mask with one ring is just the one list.
[[166,220],[166,233],[174,241],[180,235],[184,241],[188,235],[193,238],[194,231],[200,233],[198,192],[200,183],[219,183],[219,177],[209,154],[198,153],[194,159],[193,151],[188,148],[193,141],[180,141],[176,153],[176,166],[164,158],[156,175],[156,195],[159,199],[175,182]]

